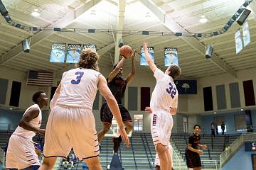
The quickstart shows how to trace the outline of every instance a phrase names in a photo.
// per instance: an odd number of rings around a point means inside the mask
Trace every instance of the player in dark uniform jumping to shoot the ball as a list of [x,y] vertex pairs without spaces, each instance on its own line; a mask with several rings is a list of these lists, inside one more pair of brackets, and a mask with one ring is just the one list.
[[[129,73],[127,79],[122,77],[122,65],[124,64],[124,60],[126,60],[125,57],[122,57],[122,60],[119,61],[118,64],[114,65],[113,71],[109,74],[107,77],[107,84],[110,87],[110,90],[112,94],[114,95],[114,98],[117,100],[121,115],[122,115],[122,121],[125,125],[125,131],[127,134],[132,130],[132,118],[129,115],[129,111],[127,111],[126,108],[122,105],[122,98],[124,97],[124,92],[126,89],[127,84],[129,84],[132,79],[134,78],[135,74],[135,63],[134,63],[134,56],[135,56],[135,50],[132,53],[132,71]],[[102,104],[102,108],[100,109],[100,119],[102,121],[103,128],[98,133],[98,139],[99,142],[102,141],[104,135],[110,130],[110,127],[112,125],[112,112],[110,111],[110,108],[107,106],[106,101]],[[122,138],[114,137],[114,153],[117,153],[119,149],[119,145],[122,142]]]

